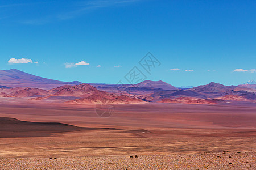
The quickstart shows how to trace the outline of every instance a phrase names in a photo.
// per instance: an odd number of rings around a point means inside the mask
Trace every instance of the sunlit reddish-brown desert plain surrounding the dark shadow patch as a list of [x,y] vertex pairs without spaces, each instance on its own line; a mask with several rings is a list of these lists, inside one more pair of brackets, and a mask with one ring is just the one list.
[[255,169],[255,105],[115,105],[99,117],[88,106],[0,104],[0,117],[115,128],[0,138],[6,169]]

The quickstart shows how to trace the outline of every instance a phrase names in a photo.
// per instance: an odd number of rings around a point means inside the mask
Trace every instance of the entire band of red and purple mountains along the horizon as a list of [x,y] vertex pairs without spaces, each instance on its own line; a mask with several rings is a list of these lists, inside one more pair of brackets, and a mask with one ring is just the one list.
[[211,82],[193,88],[176,88],[161,80],[138,84],[86,84],[61,82],[11,69],[0,70],[0,97],[64,104],[255,103],[256,84],[252,83],[225,86]]

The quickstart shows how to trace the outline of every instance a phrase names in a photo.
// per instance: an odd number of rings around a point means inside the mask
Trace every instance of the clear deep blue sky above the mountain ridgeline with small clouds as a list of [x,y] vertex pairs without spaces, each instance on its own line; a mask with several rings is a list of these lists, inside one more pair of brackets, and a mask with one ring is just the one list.
[[[137,66],[174,86],[241,84],[256,79],[255,11],[256,1],[0,1],[0,69],[117,83]],[[161,63],[151,75],[138,63],[148,52]]]

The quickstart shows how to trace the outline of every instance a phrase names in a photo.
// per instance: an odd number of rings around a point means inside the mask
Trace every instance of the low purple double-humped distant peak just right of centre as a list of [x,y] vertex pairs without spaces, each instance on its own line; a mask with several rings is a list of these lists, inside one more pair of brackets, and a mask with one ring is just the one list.
[[145,80],[141,83],[131,85],[130,87],[147,87],[147,88],[162,88],[163,90],[179,90],[178,88],[172,86],[163,81],[151,81]]

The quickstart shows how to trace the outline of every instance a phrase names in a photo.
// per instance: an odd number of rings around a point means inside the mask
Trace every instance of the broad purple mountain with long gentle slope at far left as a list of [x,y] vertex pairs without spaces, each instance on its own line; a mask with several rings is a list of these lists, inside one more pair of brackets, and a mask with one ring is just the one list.
[[0,84],[7,87],[35,87],[54,88],[64,84],[77,84],[61,82],[25,73],[17,69],[0,70]]

